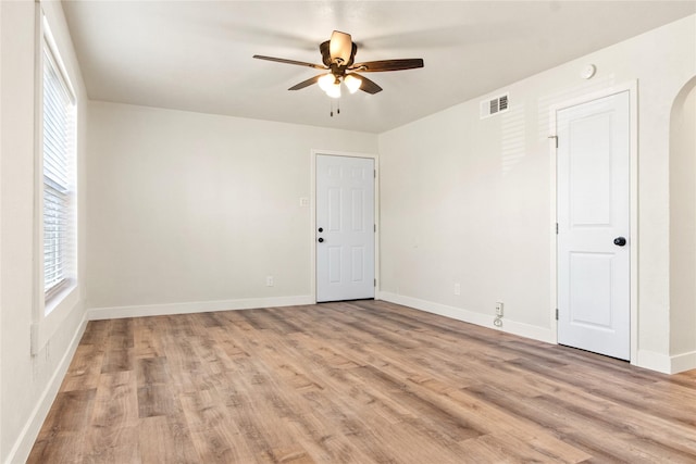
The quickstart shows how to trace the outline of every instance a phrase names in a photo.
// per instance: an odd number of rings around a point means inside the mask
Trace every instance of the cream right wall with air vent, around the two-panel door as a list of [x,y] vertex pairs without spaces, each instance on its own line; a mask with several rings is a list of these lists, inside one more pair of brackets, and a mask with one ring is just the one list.
[[[670,110],[696,75],[695,32],[691,16],[514,83],[492,93],[510,92],[497,117],[480,120],[476,99],[382,134],[382,297],[487,326],[502,301],[504,330],[554,340],[549,109],[637,79],[634,361],[671,371]],[[588,63],[597,75],[583,80]]]

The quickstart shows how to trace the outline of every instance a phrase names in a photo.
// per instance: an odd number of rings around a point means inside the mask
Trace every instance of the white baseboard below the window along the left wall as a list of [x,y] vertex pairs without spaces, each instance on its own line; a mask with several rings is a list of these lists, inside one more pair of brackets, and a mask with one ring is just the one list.
[[14,447],[12,447],[12,450],[10,450],[5,463],[23,463],[26,462],[26,460],[29,457],[29,453],[32,452],[32,448],[34,447],[36,438],[39,436],[39,431],[41,431],[44,421],[46,421],[48,412],[50,411],[51,405],[53,405],[53,401],[55,400],[55,396],[60,390],[63,378],[67,373],[70,363],[73,361],[73,356],[75,355],[75,351],[77,350],[79,340],[83,338],[85,328],[87,328],[86,313],[83,314],[83,319],[77,325],[77,329],[75,330],[75,334],[73,335],[73,338],[71,339],[70,344],[65,350],[65,353],[61,358],[61,361],[58,363],[53,375],[49,379],[46,388],[44,389],[44,392],[36,403],[36,406],[32,411],[29,419],[22,429],[20,436],[17,437],[17,440],[14,442]]

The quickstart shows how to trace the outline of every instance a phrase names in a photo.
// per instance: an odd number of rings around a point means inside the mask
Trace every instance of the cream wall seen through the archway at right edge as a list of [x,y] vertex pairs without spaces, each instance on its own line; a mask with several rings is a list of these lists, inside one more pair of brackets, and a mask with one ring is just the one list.
[[670,134],[670,353],[696,353],[696,77],[682,90]]

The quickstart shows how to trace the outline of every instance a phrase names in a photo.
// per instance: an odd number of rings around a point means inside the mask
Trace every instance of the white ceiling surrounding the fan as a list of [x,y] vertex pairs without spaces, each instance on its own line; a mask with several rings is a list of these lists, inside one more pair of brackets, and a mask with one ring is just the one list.
[[[63,1],[94,100],[382,133],[696,12],[696,1]],[[340,115],[320,74],[343,30],[357,61],[422,58],[371,73],[377,95]]]

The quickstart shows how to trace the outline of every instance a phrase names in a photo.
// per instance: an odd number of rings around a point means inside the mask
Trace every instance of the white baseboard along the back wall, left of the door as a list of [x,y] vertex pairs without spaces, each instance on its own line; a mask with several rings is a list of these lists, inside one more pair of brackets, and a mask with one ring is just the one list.
[[257,308],[298,306],[314,304],[311,296],[248,298],[244,300],[198,301],[188,303],[147,304],[138,306],[92,308],[87,311],[89,321],[123,317],[162,316],[170,314],[207,313],[210,311],[252,310]]

